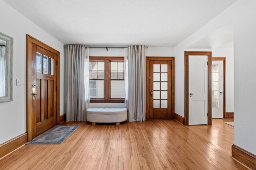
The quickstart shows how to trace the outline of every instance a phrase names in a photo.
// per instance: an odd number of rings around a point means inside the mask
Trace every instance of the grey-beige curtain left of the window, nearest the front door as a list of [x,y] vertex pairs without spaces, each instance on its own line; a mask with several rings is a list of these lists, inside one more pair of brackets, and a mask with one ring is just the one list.
[[84,45],[66,45],[66,121],[86,121],[86,109],[90,107],[88,61]]

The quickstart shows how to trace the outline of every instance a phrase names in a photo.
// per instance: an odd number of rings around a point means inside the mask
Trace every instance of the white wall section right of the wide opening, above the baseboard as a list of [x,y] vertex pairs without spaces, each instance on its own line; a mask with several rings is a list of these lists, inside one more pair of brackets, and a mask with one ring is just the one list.
[[256,154],[256,1],[234,18],[234,144]]

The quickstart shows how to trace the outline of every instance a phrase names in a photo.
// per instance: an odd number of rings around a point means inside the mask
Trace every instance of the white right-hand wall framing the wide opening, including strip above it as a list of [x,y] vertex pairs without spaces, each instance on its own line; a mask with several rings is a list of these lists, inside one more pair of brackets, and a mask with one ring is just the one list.
[[214,30],[234,23],[234,144],[256,154],[256,1],[238,0],[174,47],[175,112],[184,116],[184,51]]

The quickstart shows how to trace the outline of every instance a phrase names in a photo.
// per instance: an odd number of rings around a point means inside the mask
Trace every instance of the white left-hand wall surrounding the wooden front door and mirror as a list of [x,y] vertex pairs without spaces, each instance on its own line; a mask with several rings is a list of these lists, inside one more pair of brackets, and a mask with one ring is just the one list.
[[[13,101],[0,103],[0,143],[26,132],[26,34],[60,51],[60,114],[63,114],[63,44],[0,0],[0,32],[14,38]],[[16,79],[21,85],[16,86]]]

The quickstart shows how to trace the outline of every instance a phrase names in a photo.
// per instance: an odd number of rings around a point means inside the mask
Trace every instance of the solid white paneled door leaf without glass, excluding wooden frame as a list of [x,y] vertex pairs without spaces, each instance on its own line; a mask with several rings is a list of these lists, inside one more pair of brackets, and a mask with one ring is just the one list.
[[208,124],[208,56],[190,55],[189,62],[189,125]]

